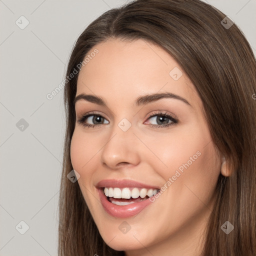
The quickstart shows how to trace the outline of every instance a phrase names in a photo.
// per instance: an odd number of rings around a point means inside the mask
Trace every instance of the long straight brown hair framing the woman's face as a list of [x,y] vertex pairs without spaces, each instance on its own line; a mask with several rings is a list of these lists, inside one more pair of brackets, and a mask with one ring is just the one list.
[[[66,76],[77,69],[89,50],[108,38],[142,38],[165,49],[194,84],[212,140],[232,169],[229,177],[219,175],[201,255],[255,256],[256,61],[243,33],[225,16],[200,0],[136,0],[110,9],[76,40]],[[115,251],[103,241],[78,182],[67,178],[73,169],[70,140],[75,126],[77,76],[64,87],[66,133],[58,255],[124,255],[124,251]],[[227,220],[234,226],[229,234],[220,228]]]

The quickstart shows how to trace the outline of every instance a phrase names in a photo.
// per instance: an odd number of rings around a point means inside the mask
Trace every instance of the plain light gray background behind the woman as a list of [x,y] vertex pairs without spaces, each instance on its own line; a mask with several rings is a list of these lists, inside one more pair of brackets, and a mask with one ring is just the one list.
[[[0,255],[57,255],[65,75],[77,36],[124,0],[0,0]],[[256,55],[256,0],[205,0],[243,31]],[[20,29],[23,15],[29,24]],[[19,21],[24,24],[23,21]],[[246,61],[246,60],[244,60]],[[21,131],[16,123],[25,119]],[[20,124],[21,125],[21,124]],[[23,220],[29,229],[24,230]]]

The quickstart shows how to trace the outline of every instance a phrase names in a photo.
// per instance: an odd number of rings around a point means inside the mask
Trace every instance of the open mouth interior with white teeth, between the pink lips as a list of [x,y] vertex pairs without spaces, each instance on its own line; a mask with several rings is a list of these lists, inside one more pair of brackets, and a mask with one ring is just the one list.
[[144,201],[159,192],[157,188],[138,187],[103,187],[102,190],[109,202],[121,206]]

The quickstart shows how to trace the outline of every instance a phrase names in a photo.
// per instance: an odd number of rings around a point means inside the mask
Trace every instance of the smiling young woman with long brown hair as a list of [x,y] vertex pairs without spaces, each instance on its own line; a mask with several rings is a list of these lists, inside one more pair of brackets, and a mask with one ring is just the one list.
[[256,61],[225,14],[108,10],[66,77],[60,256],[256,255]]

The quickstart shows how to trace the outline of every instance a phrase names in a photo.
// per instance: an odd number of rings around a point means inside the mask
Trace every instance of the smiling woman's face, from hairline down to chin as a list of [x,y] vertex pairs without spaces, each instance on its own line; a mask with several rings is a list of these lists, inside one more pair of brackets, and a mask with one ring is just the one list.
[[70,155],[102,238],[129,255],[159,255],[166,244],[192,250],[220,173],[195,87],[165,50],[142,39],[109,39],[86,56],[76,96],[91,96],[75,102]]

